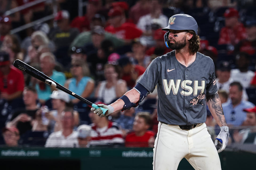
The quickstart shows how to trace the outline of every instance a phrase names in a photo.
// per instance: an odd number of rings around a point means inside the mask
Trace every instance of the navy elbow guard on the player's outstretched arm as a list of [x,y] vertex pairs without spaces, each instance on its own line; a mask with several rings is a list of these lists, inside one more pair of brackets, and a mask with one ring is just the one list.
[[137,107],[139,104],[141,104],[142,100],[144,100],[145,97],[149,94],[149,91],[139,83],[136,84],[134,89],[140,94],[138,103],[132,103],[127,96],[123,95],[122,97],[120,97],[120,99],[122,99],[125,104],[123,105],[123,109],[121,111],[130,109],[131,107]]

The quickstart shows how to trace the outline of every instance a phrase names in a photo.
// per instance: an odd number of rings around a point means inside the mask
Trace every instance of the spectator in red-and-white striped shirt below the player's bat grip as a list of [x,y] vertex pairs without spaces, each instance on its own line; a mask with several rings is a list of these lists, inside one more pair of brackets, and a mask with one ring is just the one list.
[[[95,104],[102,104],[102,102]],[[91,147],[123,145],[122,131],[115,122],[109,121],[107,117],[99,117],[93,111],[90,111],[89,117],[93,122],[91,141],[89,142]]]

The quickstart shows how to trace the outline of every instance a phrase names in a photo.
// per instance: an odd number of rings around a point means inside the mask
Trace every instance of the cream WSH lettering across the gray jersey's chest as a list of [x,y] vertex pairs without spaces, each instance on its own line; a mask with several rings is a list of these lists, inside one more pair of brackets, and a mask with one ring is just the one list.
[[184,96],[189,96],[193,94],[194,96],[197,96],[198,90],[200,90],[199,94],[202,94],[203,91],[205,90],[205,80],[201,80],[201,86],[198,85],[198,80],[194,80],[194,87],[193,85],[191,86],[193,82],[191,80],[183,80],[181,82],[180,79],[176,80],[176,83],[174,83],[174,80],[171,79],[169,80],[169,83],[167,82],[166,79],[163,79],[163,86],[165,88],[165,94],[169,95],[171,90],[174,95],[178,94],[179,87],[181,86],[182,90],[181,94]]

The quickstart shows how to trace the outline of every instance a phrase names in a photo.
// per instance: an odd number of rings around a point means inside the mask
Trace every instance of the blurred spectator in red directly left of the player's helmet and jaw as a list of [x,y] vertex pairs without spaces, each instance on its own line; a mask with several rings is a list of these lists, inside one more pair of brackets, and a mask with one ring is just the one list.
[[146,51],[147,55],[151,56],[152,54],[155,54],[156,56],[162,56],[172,51],[172,49],[167,48],[165,43],[163,42],[163,37],[165,33],[166,31],[163,31],[161,28],[155,30],[153,36],[155,40],[155,45]]

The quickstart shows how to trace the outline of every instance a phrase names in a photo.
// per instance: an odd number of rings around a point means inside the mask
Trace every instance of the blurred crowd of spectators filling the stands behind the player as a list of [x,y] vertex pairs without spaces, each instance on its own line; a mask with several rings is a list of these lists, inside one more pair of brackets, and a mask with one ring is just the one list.
[[[154,147],[157,90],[136,108],[100,118],[90,106],[25,74],[22,60],[77,95],[110,104],[132,89],[150,62],[172,49],[161,28],[185,13],[198,23],[199,52],[213,59],[230,143],[256,145],[255,0],[0,0],[0,144],[42,147]],[[53,14],[54,18],[13,33]],[[157,89],[157,88],[155,88]],[[209,110],[206,125],[219,133]]]

